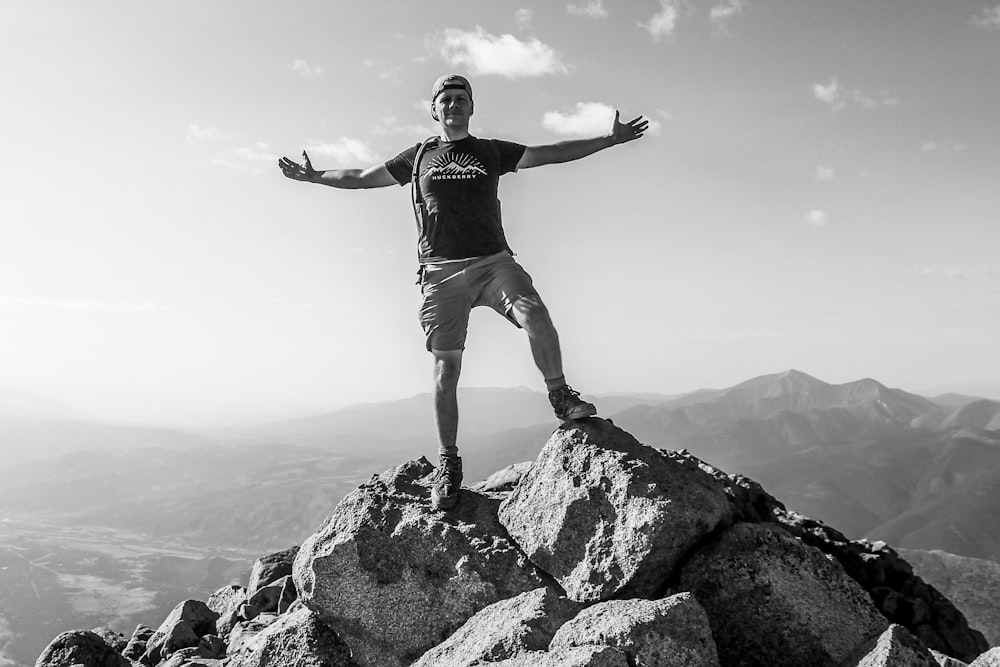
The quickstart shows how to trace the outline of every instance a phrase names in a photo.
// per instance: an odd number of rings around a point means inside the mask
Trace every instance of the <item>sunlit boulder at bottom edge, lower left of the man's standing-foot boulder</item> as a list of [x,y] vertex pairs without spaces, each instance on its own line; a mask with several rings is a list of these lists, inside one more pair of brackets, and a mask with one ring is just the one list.
[[250,638],[227,667],[357,667],[357,663],[329,626],[300,608]]

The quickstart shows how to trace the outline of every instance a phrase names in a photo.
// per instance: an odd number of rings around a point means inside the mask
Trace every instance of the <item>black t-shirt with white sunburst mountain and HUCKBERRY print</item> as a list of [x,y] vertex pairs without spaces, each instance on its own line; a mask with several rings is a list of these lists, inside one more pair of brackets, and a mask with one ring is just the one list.
[[[420,144],[385,163],[400,185],[410,182]],[[468,136],[438,139],[420,158],[420,191],[426,211],[418,221],[422,263],[482,257],[507,250],[500,220],[500,176],[517,170],[524,145]]]

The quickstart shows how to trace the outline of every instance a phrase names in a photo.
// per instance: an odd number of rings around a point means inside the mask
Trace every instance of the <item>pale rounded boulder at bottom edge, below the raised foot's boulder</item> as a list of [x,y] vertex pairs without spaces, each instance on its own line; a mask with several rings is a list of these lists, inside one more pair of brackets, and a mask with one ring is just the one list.
[[614,646],[633,667],[719,667],[708,616],[690,593],[609,600],[580,612],[550,648]]

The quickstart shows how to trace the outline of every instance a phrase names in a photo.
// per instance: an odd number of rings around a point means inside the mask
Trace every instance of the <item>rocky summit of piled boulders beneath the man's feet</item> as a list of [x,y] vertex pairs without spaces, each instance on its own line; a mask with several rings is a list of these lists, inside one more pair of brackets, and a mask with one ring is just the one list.
[[64,633],[36,667],[994,664],[888,545],[608,420],[564,424],[448,512],[433,474],[373,476],[249,590],[182,601],[127,641]]

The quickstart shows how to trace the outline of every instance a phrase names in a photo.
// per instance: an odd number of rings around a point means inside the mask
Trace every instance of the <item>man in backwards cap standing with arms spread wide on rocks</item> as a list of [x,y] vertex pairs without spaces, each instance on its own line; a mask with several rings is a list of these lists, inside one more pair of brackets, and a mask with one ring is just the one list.
[[316,171],[305,152],[302,164],[288,158],[278,162],[289,178],[335,188],[413,182],[423,294],[420,322],[427,350],[434,355],[433,403],[440,455],[431,499],[436,509],[444,510],[454,507],[462,485],[462,459],[456,443],[457,388],[473,307],[489,306],[527,332],[535,365],[559,419],[597,414],[591,403],[566,384],[559,337],[548,310],[504,238],[497,199],[500,176],[577,160],[638,139],[648,127],[641,116],[621,123],[616,112],[605,136],[524,146],[469,134],[474,108],[468,79],[446,74],[431,89],[431,117],[440,127],[440,136],[425,144],[368,169]]

